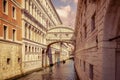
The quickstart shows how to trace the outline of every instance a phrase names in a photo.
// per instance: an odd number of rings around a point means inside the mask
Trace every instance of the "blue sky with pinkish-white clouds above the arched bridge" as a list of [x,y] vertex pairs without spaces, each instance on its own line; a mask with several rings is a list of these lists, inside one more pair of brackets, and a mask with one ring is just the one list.
[[63,24],[74,28],[78,0],[52,0],[52,2]]

